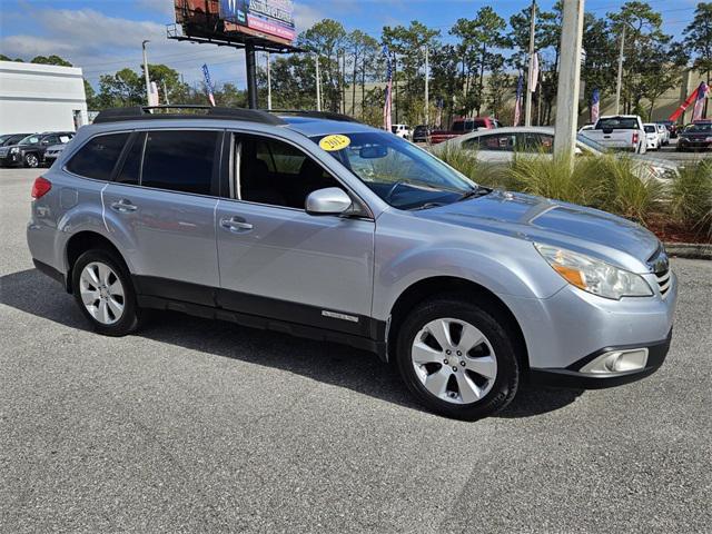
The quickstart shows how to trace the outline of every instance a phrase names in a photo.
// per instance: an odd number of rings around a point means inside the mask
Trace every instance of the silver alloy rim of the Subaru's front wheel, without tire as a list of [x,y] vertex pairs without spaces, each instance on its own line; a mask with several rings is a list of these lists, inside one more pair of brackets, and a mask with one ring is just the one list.
[[461,319],[427,323],[415,336],[411,358],[421,384],[453,404],[481,400],[497,377],[492,344],[478,328]]

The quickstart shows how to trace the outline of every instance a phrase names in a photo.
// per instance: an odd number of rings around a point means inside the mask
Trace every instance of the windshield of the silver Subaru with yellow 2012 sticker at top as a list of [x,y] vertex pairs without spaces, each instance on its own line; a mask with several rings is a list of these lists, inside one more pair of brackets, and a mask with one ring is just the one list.
[[[322,139],[332,137],[336,136],[312,139],[319,144]],[[393,207],[421,209],[442,206],[477,190],[477,186],[465,176],[398,137],[380,131],[343,137],[348,139],[348,146],[332,150],[332,156]]]

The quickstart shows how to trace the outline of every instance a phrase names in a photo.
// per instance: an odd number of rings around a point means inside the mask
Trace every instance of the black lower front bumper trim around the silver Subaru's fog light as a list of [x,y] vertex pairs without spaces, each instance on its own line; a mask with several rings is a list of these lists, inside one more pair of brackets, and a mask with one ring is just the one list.
[[[655,373],[665,360],[668,352],[670,350],[670,343],[672,340],[672,329],[668,334],[668,337],[662,342],[649,344],[649,345],[626,345],[617,347],[605,347],[595,353],[581,358],[578,362],[570,365],[566,368],[546,368],[546,369],[532,369],[530,374],[531,382],[543,386],[554,387],[571,387],[577,389],[601,389],[604,387],[614,387],[622,384],[629,384],[631,382],[640,380],[646,376]],[[644,368],[623,373],[582,373],[580,369],[587,363],[595,359],[602,354],[626,350],[633,348],[646,348],[647,362]]]

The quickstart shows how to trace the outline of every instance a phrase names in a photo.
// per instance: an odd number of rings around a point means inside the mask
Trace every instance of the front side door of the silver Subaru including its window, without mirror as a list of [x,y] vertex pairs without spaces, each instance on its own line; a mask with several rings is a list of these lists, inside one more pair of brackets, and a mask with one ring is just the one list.
[[308,215],[309,192],[346,187],[291,145],[253,136],[235,142],[235,198],[220,199],[216,212],[219,304],[366,335],[374,221]]

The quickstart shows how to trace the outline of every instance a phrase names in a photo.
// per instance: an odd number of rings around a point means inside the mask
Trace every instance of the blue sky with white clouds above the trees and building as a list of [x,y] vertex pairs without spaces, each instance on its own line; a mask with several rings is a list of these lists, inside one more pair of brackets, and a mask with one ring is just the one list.
[[[166,38],[166,24],[174,22],[172,0],[2,0],[0,52],[30,60],[58,55],[81,67],[96,87],[99,76],[141,63],[141,41],[149,39],[151,63],[166,63],[187,82],[200,80],[207,63],[216,85],[245,87],[241,52],[212,44],[177,42]],[[551,9],[554,0],[540,0]],[[616,11],[624,2],[587,0],[586,11],[599,17]],[[649,0],[662,13],[665,31],[680,37],[692,20],[696,0]],[[295,0],[297,30],[330,18],[347,30],[360,29],[378,37],[384,26],[407,26],[418,20],[447,36],[462,17],[473,18],[483,6],[493,6],[505,19],[530,4],[528,0]],[[264,58],[259,59],[264,61]]]

